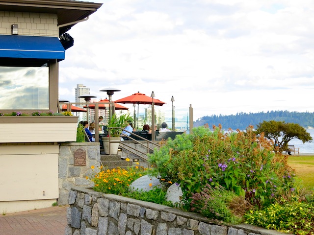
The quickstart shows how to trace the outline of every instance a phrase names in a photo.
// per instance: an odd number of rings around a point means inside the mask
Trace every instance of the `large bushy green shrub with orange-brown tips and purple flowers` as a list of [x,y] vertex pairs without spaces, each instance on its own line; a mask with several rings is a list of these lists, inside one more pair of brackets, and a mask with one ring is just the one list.
[[292,187],[293,171],[286,159],[275,156],[263,135],[252,127],[245,132],[198,127],[178,135],[149,155],[152,174],[177,182],[183,190],[183,208],[190,209],[192,193],[206,184],[222,186],[258,206],[271,203],[281,187]]

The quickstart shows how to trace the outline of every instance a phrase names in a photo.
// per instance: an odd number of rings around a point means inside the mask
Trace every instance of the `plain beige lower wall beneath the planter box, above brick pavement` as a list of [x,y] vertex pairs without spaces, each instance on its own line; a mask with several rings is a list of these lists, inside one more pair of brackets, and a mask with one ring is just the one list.
[[59,193],[58,154],[57,144],[0,145],[0,212],[52,205]]

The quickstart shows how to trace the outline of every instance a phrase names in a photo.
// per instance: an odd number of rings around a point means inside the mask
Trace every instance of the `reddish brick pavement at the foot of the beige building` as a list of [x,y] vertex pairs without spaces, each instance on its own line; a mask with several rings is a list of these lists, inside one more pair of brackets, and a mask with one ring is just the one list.
[[0,215],[0,235],[64,235],[67,207]]

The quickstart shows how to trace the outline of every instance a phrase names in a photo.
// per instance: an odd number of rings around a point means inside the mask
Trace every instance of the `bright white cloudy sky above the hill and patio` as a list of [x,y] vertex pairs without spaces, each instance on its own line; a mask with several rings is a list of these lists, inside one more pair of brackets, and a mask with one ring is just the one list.
[[[314,112],[313,0],[95,0],[68,33],[59,98],[140,92],[171,118],[271,110]],[[125,105],[133,110],[132,105]],[[145,105],[140,105],[140,113]]]

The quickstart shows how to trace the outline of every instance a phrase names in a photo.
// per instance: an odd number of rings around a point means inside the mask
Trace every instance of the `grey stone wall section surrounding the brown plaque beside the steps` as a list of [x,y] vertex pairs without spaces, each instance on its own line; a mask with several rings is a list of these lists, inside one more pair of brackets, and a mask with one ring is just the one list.
[[[74,186],[93,187],[93,183],[86,179],[100,167],[99,142],[69,142],[59,146],[58,175],[59,175],[59,205],[68,205],[69,192]],[[74,152],[78,149],[86,151],[86,165],[74,165]]]

